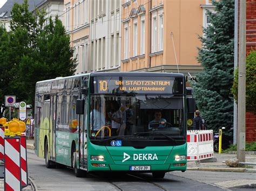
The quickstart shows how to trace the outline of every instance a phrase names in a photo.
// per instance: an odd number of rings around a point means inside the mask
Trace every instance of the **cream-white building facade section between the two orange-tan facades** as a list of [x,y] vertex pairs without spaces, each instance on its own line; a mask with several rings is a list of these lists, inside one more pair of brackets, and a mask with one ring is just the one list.
[[121,1],[91,0],[89,72],[119,71]]

